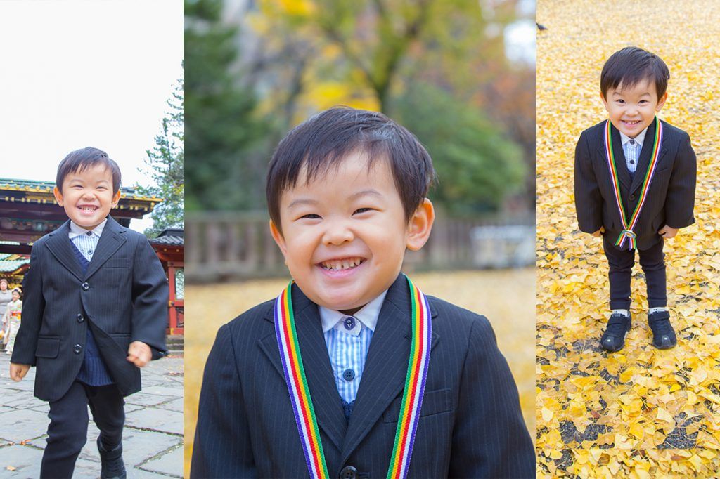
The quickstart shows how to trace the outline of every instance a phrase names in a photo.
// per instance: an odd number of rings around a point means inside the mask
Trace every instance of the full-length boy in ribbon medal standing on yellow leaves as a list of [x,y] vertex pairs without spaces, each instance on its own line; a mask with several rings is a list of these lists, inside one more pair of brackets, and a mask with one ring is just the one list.
[[600,346],[621,350],[630,329],[635,250],[647,281],[652,344],[675,346],[665,291],[662,246],[693,224],[696,158],[683,130],[657,119],[670,73],[652,53],[626,47],[600,76],[608,119],[580,134],[575,149],[575,207],[582,232],[603,236],[610,309]]

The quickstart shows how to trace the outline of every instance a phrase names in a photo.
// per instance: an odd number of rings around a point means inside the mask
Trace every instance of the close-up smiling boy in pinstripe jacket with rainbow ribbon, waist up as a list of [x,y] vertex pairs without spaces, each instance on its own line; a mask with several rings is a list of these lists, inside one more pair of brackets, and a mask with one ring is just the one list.
[[372,111],[324,111],[280,142],[266,191],[294,283],[217,333],[193,478],[535,477],[490,323],[400,274],[430,234],[433,175]]

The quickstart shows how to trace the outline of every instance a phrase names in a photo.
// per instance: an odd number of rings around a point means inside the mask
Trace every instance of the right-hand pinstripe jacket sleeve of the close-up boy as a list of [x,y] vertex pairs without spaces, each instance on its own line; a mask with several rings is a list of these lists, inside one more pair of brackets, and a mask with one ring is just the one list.
[[485,316],[474,321],[460,384],[451,478],[534,478],[518,388]]

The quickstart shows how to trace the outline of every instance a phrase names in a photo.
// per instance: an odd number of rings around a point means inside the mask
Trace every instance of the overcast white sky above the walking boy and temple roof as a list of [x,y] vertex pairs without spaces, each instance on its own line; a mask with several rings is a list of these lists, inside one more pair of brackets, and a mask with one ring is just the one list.
[[138,168],[182,76],[181,0],[0,0],[0,45],[0,177],[55,181],[94,146],[123,186],[148,184]]

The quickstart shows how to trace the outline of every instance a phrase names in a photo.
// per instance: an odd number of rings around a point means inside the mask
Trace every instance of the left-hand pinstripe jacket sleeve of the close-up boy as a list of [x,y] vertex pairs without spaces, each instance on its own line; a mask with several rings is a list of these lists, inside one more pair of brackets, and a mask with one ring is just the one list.
[[240,374],[227,324],[207,357],[190,478],[256,478]]

